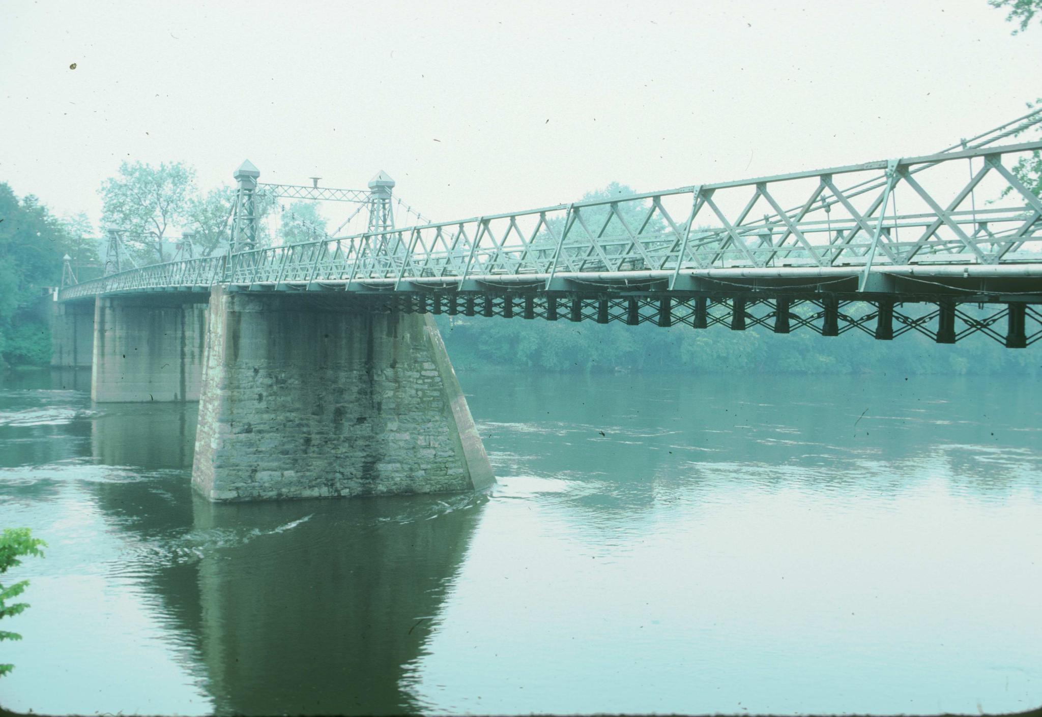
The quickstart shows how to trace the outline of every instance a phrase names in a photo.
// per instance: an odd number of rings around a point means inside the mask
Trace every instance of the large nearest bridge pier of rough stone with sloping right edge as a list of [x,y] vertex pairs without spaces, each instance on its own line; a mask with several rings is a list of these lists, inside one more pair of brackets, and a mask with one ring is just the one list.
[[215,288],[207,331],[192,481],[210,500],[494,483],[429,316]]

